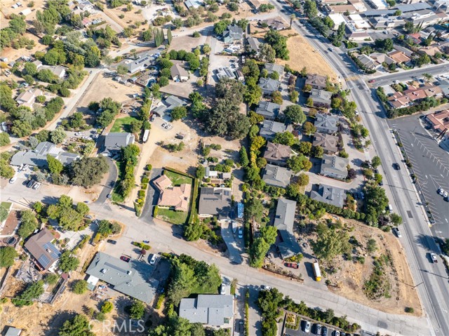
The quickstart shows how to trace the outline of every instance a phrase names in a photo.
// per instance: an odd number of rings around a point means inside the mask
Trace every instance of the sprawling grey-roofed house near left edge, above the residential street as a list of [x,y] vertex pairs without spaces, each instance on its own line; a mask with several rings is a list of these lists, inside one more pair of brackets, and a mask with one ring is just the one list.
[[45,168],[48,166],[47,154],[58,159],[62,164],[68,165],[79,159],[78,154],[65,152],[60,147],[48,141],[39,142],[35,149],[29,151],[19,151],[11,157],[11,166],[36,166]]

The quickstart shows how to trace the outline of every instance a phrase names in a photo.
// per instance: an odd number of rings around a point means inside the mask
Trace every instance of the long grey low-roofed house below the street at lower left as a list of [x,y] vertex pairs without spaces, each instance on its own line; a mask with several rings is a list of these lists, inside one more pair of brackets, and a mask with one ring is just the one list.
[[154,266],[146,262],[125,262],[103,252],[98,252],[86,270],[88,283],[95,288],[98,281],[111,285],[117,292],[150,304],[156,295],[159,281],[152,277]]

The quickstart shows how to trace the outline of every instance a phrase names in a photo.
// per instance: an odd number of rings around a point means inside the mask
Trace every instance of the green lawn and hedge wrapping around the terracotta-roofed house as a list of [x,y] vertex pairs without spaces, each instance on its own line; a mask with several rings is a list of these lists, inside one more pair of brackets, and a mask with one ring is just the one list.
[[[169,167],[164,168],[163,175],[170,179],[171,186],[173,187],[179,187],[182,184],[189,184],[192,186],[189,199],[189,208],[187,211],[182,211],[175,210],[172,206],[155,206],[153,217],[172,224],[186,224],[187,222],[191,222],[195,217],[196,197],[198,196],[197,179],[192,175]],[[156,187],[158,186],[156,185]],[[163,192],[163,190],[161,190],[161,192]]]

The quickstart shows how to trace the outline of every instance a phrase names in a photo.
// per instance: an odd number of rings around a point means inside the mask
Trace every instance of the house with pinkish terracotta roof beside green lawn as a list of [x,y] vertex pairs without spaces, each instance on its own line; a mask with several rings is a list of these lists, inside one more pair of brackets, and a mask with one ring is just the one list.
[[173,186],[167,175],[161,175],[154,184],[159,189],[158,206],[163,208],[173,208],[176,211],[188,211],[192,184],[183,183]]

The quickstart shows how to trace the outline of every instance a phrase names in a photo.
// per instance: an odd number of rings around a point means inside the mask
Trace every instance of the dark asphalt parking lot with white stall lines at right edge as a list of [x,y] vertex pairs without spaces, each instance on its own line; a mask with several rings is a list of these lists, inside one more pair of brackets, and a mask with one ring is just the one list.
[[[398,131],[412,163],[417,183],[429,205],[435,223],[432,231],[436,236],[449,237],[449,203],[438,194],[438,189],[449,190],[449,155],[426,129],[420,115],[401,118],[401,122],[389,121],[390,127]],[[404,218],[406,221],[406,218]]]

